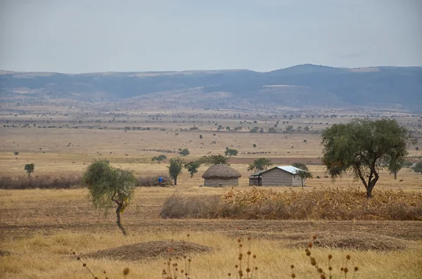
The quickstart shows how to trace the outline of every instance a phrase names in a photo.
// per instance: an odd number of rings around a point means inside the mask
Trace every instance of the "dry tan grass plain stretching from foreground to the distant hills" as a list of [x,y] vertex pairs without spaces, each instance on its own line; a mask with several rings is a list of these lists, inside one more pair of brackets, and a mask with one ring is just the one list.
[[[274,164],[307,163],[314,179],[307,181],[305,190],[363,188],[351,176],[336,181],[324,178],[324,168],[319,165],[319,131],[335,122],[350,121],[352,117],[269,117],[263,113],[211,110],[108,110],[111,112],[73,105],[13,108],[3,105],[0,175],[25,175],[23,167],[28,163],[35,164],[34,175],[82,174],[96,158],[110,160],[115,167],[131,169],[138,176],[167,174],[168,160],[158,164],[151,162],[151,157],[160,154],[176,157],[178,148],[188,148],[191,155],[185,160],[189,161],[207,154],[221,154],[229,147],[239,152],[230,162],[231,167],[241,171],[241,189],[249,188],[247,167],[257,157],[267,157]],[[363,114],[347,112],[347,115]],[[421,150],[415,149],[422,147],[420,118],[403,116],[398,118],[399,122],[414,129],[415,136],[419,137],[418,143],[409,148],[409,155],[418,160],[422,155]],[[278,120],[280,133],[249,132],[254,126],[274,127]],[[198,130],[189,131],[194,125]],[[222,125],[221,131],[217,131],[219,125]],[[242,129],[229,131],[226,126],[230,129],[242,126]],[[283,133],[288,126],[296,131]],[[302,127],[300,131],[297,131],[298,126]],[[308,131],[305,126],[309,127]],[[256,148],[252,147],[253,143]],[[155,151],[163,149],[173,153]],[[19,154],[14,155],[14,152]],[[193,179],[184,171],[174,188],[137,188],[134,202],[122,214],[122,223],[129,232],[127,237],[118,230],[113,212],[103,218],[94,211],[84,188],[0,190],[0,278],[92,278],[70,254],[71,249],[78,254],[89,254],[151,241],[164,241],[168,249],[158,257],[136,261],[87,256],[82,260],[98,278],[106,275],[123,278],[122,271],[127,267],[127,278],[162,278],[163,261],[172,257],[172,245],[186,241],[213,249],[212,252],[188,253],[192,259],[191,278],[227,278],[227,273],[234,274],[234,266],[238,264],[236,239],[245,240],[248,236],[252,238],[250,249],[257,255],[258,273],[254,278],[291,278],[291,264],[295,265],[296,278],[319,278],[305,255],[312,235],[318,235],[319,242],[312,253],[321,266],[325,268],[327,255],[333,255],[334,278],[340,278],[339,268],[344,266],[347,254],[352,257],[350,266],[359,267],[354,278],[422,278],[420,221],[161,219],[162,205],[174,193],[184,196],[226,193],[227,189],[222,188],[199,188],[205,169],[201,167]],[[316,176],[321,178],[316,179]],[[383,171],[376,189],[422,193],[422,176],[402,169],[394,180],[388,171]],[[302,188],[291,190],[302,191]],[[187,234],[191,236],[187,238]],[[148,250],[155,248],[149,246]],[[6,255],[6,252],[11,254]],[[347,278],[352,278],[352,273]]]

